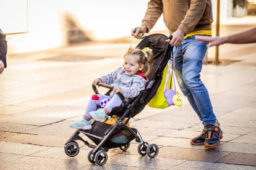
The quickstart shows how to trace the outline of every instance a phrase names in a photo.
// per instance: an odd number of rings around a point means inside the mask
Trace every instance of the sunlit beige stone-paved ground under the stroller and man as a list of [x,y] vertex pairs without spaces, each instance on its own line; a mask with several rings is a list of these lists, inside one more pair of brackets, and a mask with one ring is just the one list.
[[75,131],[69,123],[81,117],[93,79],[122,65],[127,47],[91,44],[10,55],[0,76],[0,169],[256,169],[255,44],[222,47],[223,59],[241,62],[203,66],[224,132],[215,150],[189,144],[203,126],[183,97],[182,107],[147,107],[130,121],[160,147],[155,159],[140,156],[135,142],[126,152],[109,150],[103,167],[88,162],[90,148],[82,143],[78,156],[66,156],[64,144]]

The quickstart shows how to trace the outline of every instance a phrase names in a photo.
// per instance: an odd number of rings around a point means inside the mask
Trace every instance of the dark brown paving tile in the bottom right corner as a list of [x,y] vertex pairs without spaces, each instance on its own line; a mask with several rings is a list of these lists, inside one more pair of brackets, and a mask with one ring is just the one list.
[[[247,153],[230,153],[216,163],[229,163],[229,164],[244,164],[250,166],[256,166],[256,155]],[[255,167],[256,169],[256,167]]]

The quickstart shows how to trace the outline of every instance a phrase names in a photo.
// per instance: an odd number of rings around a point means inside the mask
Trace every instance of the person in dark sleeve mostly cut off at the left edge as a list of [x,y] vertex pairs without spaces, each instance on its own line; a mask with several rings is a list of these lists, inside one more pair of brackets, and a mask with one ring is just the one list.
[[6,42],[6,34],[2,33],[0,29],[0,74],[4,71],[6,65],[6,54],[7,54],[7,42]]

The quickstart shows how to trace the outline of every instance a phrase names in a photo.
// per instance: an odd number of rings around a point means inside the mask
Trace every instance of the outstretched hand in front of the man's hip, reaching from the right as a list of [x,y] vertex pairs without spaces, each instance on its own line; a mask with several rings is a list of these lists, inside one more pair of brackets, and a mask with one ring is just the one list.
[[207,47],[218,46],[224,44],[226,39],[224,37],[210,37],[210,36],[195,36],[195,39],[208,43]]

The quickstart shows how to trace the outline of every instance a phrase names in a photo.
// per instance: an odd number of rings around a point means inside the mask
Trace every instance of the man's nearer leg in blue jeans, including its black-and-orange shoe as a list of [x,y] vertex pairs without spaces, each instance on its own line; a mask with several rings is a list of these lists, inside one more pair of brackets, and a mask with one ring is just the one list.
[[203,42],[197,41],[194,37],[187,38],[182,42],[182,52],[184,52],[182,78],[192,94],[201,115],[199,117],[205,125],[206,131],[204,130],[200,137],[202,139],[205,137],[205,147],[213,147],[220,144],[222,131],[213,113],[207,88],[200,79],[203,57],[207,51],[206,45]]

